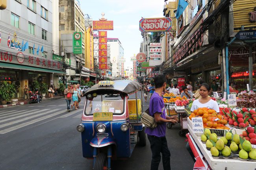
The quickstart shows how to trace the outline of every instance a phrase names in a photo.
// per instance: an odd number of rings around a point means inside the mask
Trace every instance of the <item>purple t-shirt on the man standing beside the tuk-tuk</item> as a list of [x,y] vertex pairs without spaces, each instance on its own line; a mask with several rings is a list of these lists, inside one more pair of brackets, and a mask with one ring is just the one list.
[[[165,104],[163,102],[163,98],[156,92],[153,93],[150,102],[149,102],[149,115],[154,117],[154,113],[162,113],[161,117],[163,119],[166,118],[165,116]],[[147,128],[145,130],[145,133],[148,135],[153,135],[157,137],[164,137],[166,131],[166,123],[158,123],[156,128]]]

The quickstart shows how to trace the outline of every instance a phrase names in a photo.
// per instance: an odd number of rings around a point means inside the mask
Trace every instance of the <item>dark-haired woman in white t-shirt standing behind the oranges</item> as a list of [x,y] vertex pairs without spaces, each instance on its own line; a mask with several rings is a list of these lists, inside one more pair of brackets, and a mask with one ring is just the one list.
[[203,83],[199,86],[199,93],[201,99],[197,99],[191,106],[191,112],[198,108],[209,108],[219,113],[219,105],[216,101],[212,100],[208,95],[210,94],[210,86],[207,83]]

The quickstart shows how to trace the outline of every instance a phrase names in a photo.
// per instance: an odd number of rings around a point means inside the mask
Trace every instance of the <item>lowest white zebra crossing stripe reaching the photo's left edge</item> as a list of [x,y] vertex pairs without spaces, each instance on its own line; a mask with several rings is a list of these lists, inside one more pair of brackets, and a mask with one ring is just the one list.
[[[53,110],[52,110],[52,111],[53,111]],[[77,113],[77,112],[79,112],[79,111],[80,111],[80,110],[76,110],[76,111],[74,111],[74,112]],[[12,127],[10,127],[10,128],[6,128],[6,129],[4,129],[4,130],[0,130],[0,134],[4,134],[4,133],[7,133],[7,132],[11,132],[11,131],[16,130],[16,129],[18,129],[18,128],[22,128],[22,127],[24,127],[24,126],[28,126],[28,125],[30,125],[30,124],[33,124],[33,123],[35,123],[35,122],[42,121],[42,120],[44,120],[44,119],[48,119],[48,118],[50,118],[50,117],[54,117],[54,116],[59,115],[59,114],[64,113],[64,112],[67,112],[67,111],[66,111],[66,110],[62,110],[62,111],[59,111],[59,112],[56,112],[56,113],[52,113],[52,114],[50,114],[50,115],[46,115],[46,116],[44,116],[44,117],[40,117],[40,118],[38,118],[38,119],[34,119],[34,120],[32,120],[32,121],[24,122],[24,123],[18,124],[18,125],[16,125],[16,126],[12,126]]]

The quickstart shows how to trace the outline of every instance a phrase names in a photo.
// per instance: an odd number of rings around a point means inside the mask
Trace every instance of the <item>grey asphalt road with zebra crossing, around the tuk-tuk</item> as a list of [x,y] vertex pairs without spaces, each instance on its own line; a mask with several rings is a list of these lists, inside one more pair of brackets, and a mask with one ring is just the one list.
[[[84,101],[85,97],[80,106]],[[76,131],[82,109],[67,112],[66,108],[63,98],[0,109],[0,170],[92,170],[93,161],[83,158],[81,135]],[[144,102],[143,110],[147,108]],[[179,130],[176,124],[166,132],[171,168],[190,170],[194,162]],[[130,159],[112,161],[112,170],[149,170],[150,161],[147,141],[145,147],[136,146]]]

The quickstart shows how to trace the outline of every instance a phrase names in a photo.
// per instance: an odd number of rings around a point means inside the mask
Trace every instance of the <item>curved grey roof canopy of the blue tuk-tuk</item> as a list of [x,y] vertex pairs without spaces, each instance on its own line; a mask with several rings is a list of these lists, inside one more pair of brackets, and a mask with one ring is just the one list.
[[86,91],[85,95],[98,91],[99,93],[109,93],[109,92],[121,92],[126,94],[132,94],[141,89],[139,82],[132,80],[115,80],[114,84],[111,86],[100,86],[95,84],[89,90]]

